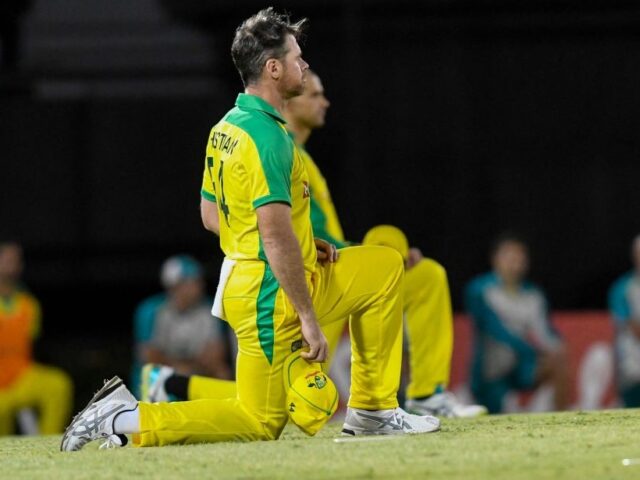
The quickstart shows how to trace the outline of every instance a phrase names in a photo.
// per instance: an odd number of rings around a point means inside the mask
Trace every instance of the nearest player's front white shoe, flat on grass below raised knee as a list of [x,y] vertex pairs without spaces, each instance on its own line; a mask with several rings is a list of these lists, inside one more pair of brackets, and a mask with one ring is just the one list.
[[412,415],[400,407],[392,410],[348,408],[343,435],[403,435],[440,430],[440,420],[430,415]]

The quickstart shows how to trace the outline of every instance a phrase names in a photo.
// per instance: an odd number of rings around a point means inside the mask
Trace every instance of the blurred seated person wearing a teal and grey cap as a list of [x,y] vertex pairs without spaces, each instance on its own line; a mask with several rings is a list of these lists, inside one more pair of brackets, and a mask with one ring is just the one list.
[[231,378],[221,322],[211,315],[201,265],[188,255],[169,258],[160,280],[165,293],[143,301],[134,318],[137,362],[134,383],[145,363],[183,375]]

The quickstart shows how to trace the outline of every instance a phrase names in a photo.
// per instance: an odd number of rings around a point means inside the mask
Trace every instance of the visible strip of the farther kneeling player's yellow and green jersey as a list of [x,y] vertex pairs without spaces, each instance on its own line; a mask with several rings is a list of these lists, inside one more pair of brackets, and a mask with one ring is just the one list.
[[338,248],[346,247],[344,233],[338,220],[336,208],[331,200],[327,181],[320,173],[320,169],[315,164],[311,155],[302,146],[298,146],[304,166],[309,175],[309,187],[311,190],[311,224],[313,234],[333,243]]

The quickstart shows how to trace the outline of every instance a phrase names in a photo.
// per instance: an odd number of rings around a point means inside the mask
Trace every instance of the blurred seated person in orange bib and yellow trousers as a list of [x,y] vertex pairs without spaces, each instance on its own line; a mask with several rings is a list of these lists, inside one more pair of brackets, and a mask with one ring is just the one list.
[[60,433],[69,421],[72,383],[62,370],[33,361],[40,305],[20,283],[22,266],[20,245],[0,242],[0,435],[15,433],[24,409],[35,412],[37,433]]

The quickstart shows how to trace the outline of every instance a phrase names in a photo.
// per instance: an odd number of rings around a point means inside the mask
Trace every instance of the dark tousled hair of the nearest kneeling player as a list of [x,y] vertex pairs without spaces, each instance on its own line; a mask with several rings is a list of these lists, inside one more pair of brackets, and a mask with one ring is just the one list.
[[267,60],[287,54],[287,35],[299,40],[306,23],[306,18],[291,23],[288,14],[276,13],[273,7],[242,22],[231,44],[231,58],[245,87],[260,78]]

